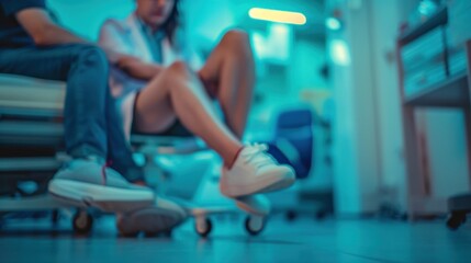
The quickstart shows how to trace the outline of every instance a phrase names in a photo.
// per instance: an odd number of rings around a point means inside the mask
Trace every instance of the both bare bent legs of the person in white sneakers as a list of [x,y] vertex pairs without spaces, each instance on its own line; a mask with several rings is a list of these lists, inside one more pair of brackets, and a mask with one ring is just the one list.
[[[255,80],[248,37],[231,31],[198,72],[184,62],[173,62],[157,75],[136,101],[136,127],[158,133],[177,118],[231,164],[242,148]],[[217,118],[211,99],[216,99],[226,124]]]

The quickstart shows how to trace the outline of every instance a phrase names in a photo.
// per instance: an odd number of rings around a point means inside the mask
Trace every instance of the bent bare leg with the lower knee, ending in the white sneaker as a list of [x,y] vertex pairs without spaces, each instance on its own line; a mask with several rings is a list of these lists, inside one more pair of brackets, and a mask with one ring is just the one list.
[[136,126],[156,133],[176,118],[231,164],[242,148],[240,141],[217,118],[200,79],[183,62],[175,62],[142,91],[136,101]]

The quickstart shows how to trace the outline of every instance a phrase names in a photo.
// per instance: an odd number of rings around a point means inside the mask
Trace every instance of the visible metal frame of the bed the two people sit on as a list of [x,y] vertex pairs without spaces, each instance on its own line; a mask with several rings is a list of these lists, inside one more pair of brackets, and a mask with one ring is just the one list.
[[[47,90],[51,98],[35,94],[23,100],[32,89]],[[23,89],[23,90],[21,90]],[[9,100],[9,91],[14,90]],[[10,157],[0,155],[0,172],[5,176],[15,176],[16,172],[52,171],[51,176],[67,159],[64,149],[63,101],[65,84],[32,78],[0,75],[0,150],[12,150],[15,147],[51,147],[56,155],[51,157]],[[158,169],[152,161],[157,155],[187,155],[206,149],[195,138],[141,136],[131,137],[134,149],[146,157],[147,165]],[[4,157],[7,156],[7,157]],[[0,173],[0,176],[2,174]],[[10,174],[11,173],[11,174]],[[3,179],[4,180],[4,179]],[[70,207],[52,198],[47,194],[38,196],[0,197],[0,211],[37,210]]]

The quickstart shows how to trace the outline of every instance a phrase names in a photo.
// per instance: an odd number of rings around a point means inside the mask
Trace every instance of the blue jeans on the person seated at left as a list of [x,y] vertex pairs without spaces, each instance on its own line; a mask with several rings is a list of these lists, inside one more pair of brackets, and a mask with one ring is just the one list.
[[0,72],[67,81],[67,153],[74,158],[99,156],[111,160],[111,167],[128,180],[141,180],[110,94],[109,65],[100,48],[70,44],[0,49]]

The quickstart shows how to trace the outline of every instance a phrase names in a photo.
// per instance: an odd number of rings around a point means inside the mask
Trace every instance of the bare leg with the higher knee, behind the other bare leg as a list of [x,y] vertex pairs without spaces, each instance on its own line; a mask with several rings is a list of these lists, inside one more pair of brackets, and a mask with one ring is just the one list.
[[199,75],[209,93],[220,101],[227,126],[240,139],[255,82],[254,55],[247,34],[227,32]]

